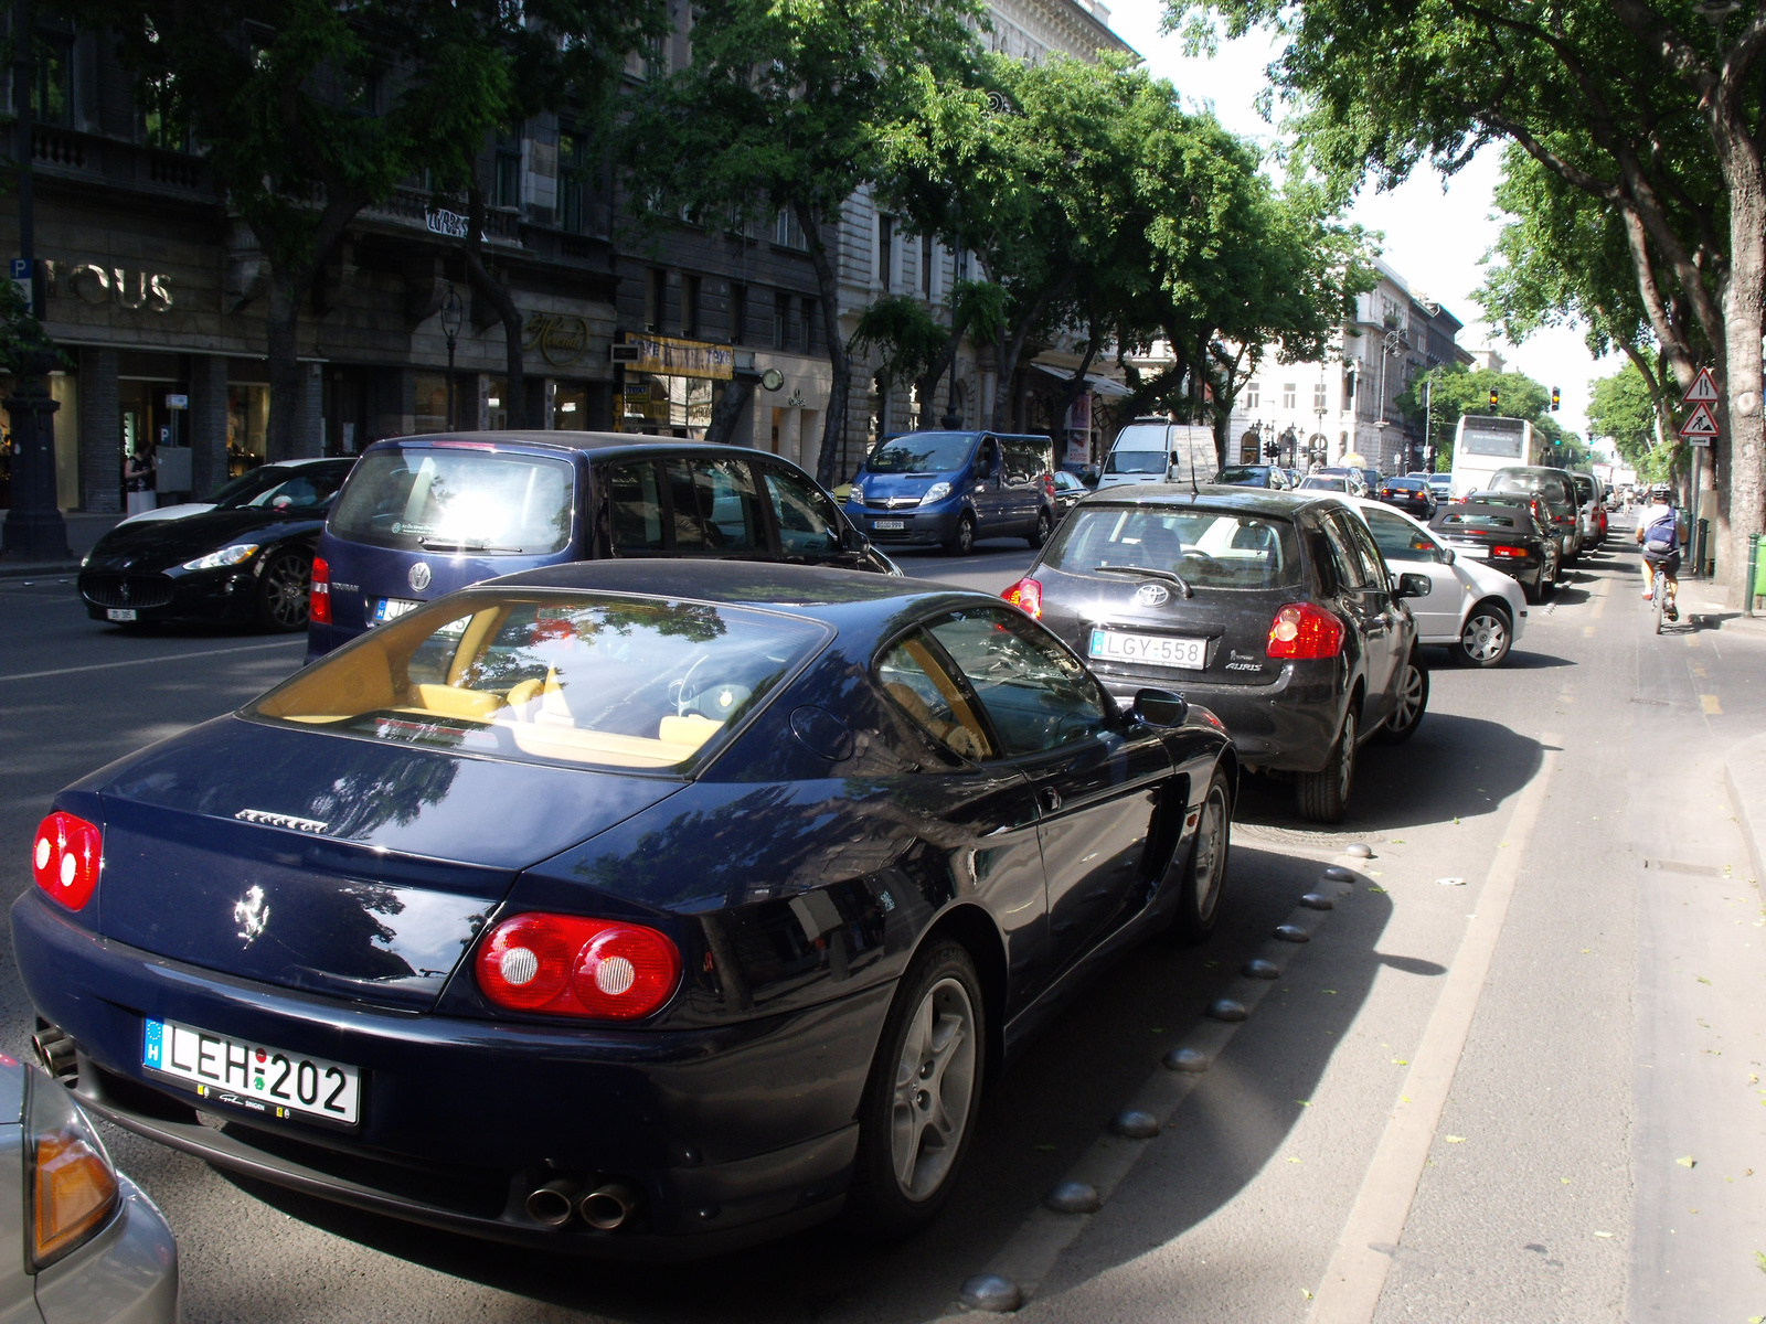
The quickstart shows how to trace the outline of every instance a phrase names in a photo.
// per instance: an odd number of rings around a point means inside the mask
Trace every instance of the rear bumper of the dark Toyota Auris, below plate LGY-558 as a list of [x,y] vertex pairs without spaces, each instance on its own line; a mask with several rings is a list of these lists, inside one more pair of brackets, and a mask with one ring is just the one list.
[[1206,685],[1181,673],[1097,676],[1118,703],[1146,687],[1169,688],[1226,722],[1240,759],[1275,771],[1317,771],[1342,729],[1346,696],[1339,660],[1289,662],[1270,685]]

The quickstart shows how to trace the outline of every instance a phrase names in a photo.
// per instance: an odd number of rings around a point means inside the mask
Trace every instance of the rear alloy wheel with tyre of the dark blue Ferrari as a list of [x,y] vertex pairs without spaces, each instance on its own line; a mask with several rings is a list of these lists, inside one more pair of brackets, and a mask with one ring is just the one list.
[[848,1209],[864,1230],[906,1236],[950,1197],[980,1105],[982,1013],[968,950],[934,939],[902,976],[860,1105]]

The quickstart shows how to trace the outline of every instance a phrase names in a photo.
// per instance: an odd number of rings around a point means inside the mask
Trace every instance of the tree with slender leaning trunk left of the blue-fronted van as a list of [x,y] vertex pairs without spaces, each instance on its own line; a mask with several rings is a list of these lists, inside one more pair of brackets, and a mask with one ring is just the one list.
[[909,83],[971,81],[973,0],[703,0],[692,60],[627,99],[620,164],[655,229],[740,231],[788,212],[804,233],[832,383],[816,477],[834,482],[851,397],[839,272],[825,228],[878,175]]

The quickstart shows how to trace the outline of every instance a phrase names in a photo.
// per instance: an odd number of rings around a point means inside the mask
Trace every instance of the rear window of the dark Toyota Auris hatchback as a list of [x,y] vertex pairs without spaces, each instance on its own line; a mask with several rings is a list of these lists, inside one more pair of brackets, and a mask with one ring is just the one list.
[[1068,574],[1176,572],[1194,588],[1282,588],[1300,577],[1293,524],[1219,510],[1081,505],[1042,560]]

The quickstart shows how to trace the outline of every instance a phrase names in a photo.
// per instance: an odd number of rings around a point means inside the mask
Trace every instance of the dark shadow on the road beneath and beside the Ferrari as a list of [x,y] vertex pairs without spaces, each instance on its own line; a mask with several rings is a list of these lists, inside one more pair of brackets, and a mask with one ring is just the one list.
[[[1201,1008],[1236,976],[1238,966],[1263,946],[1270,930],[1293,911],[1296,897],[1316,881],[1312,860],[1234,846],[1229,909],[1215,936],[1196,948],[1151,939],[1084,990],[989,1089],[970,1165],[950,1207],[925,1234],[895,1246],[860,1245],[832,1225],[694,1264],[609,1264],[512,1250],[242,1177],[228,1181],[334,1236],[567,1313],[643,1324],[932,1319],[1097,1139],[1164,1050],[1183,1042]],[[1326,999],[1333,1033],[1353,1020],[1381,966],[1413,974],[1441,973],[1430,962],[1374,950],[1390,914],[1386,895],[1358,888],[1346,909],[1355,913],[1355,923],[1332,916],[1317,943],[1319,948],[1360,943],[1355,952],[1360,974],[1337,978],[1337,996]],[[1284,996],[1286,990],[1272,989],[1272,997]],[[1316,1049],[1293,1056],[1279,1079],[1233,1079],[1231,1112],[1254,1117],[1261,1140],[1247,1147],[1234,1139],[1229,1172],[1210,1176],[1187,1192],[1181,1220],[1203,1218],[1231,1199],[1280,1144],[1298,1116],[1293,1100],[1310,1093],[1335,1043],[1330,1034],[1314,1038]],[[1210,1116],[1199,1123],[1203,1144],[1222,1142],[1213,1133],[1220,1121]],[[1162,1225],[1157,1236],[1178,1230],[1178,1223]],[[249,1305],[237,1296],[230,1301]],[[547,1312],[546,1317],[555,1315]],[[517,1312],[507,1319],[535,1315]]]

